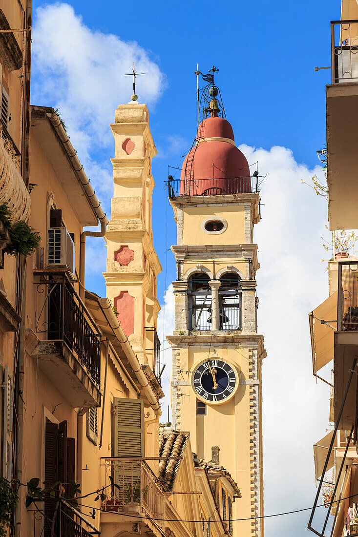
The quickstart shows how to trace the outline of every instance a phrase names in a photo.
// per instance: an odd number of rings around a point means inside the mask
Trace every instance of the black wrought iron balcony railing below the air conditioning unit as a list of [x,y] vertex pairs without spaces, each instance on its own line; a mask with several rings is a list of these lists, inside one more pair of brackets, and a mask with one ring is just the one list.
[[35,285],[35,331],[48,340],[65,342],[99,387],[101,335],[70,280],[62,274]]

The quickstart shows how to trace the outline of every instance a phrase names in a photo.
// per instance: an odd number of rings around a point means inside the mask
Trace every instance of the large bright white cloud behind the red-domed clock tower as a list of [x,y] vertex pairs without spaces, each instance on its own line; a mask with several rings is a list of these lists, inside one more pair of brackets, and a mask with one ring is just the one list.
[[[312,445],[328,426],[330,391],[323,383],[317,385],[312,376],[307,320],[307,313],[328,295],[327,265],[320,263],[327,257],[321,241],[327,206],[302,183],[302,179],[309,183],[314,173],[321,174],[318,167],[309,170],[298,164],[284,147],[240,149],[249,162],[259,161],[261,173],[267,173],[261,185],[262,221],[255,227],[254,240],[261,264],[257,272],[259,332],[268,353],[262,372],[264,511],[274,514],[312,505],[316,494]],[[171,286],[158,322],[160,336],[163,319],[164,333],[171,333]],[[165,341],[162,345],[168,346]],[[167,352],[169,367],[171,353]],[[168,381],[164,390],[167,401]],[[240,476],[236,477],[240,485]],[[323,508],[322,514],[326,514]],[[309,516],[305,511],[268,518],[266,537],[309,534],[305,529]]]

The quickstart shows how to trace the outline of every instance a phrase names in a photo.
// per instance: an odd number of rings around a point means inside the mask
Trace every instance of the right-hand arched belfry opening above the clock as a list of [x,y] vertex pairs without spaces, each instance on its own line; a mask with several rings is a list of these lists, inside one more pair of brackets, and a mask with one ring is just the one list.
[[238,274],[229,272],[220,278],[220,330],[241,330],[241,285]]

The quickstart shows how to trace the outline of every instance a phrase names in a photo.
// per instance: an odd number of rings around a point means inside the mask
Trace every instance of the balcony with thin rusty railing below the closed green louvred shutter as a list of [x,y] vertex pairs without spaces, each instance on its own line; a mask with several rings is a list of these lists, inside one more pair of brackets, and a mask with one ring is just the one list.
[[[118,524],[122,529],[133,523],[144,525],[145,533],[160,537],[165,533],[166,497],[145,459],[123,457],[103,459],[106,499],[101,513],[101,524]],[[128,515],[126,518],[125,515]]]

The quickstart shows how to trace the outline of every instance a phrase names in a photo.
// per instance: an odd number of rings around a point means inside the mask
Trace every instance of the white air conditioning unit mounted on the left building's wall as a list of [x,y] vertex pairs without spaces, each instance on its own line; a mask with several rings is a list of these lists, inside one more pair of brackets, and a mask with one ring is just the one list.
[[66,228],[47,229],[47,267],[67,267],[75,272],[75,245]]

